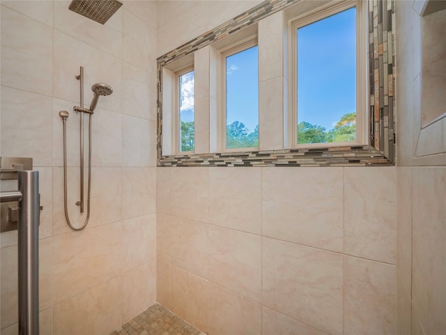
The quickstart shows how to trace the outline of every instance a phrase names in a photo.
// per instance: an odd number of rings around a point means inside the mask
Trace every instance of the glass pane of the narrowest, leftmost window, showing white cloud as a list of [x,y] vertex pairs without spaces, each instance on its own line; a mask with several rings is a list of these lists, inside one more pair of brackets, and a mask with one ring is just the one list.
[[194,71],[178,77],[180,151],[194,150]]

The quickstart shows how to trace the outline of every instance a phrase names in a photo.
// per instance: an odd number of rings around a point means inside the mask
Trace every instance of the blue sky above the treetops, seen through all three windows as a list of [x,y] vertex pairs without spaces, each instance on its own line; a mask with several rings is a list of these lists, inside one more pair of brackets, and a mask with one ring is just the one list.
[[[355,8],[298,29],[298,123],[327,130],[356,111]],[[226,58],[226,124],[259,124],[258,47]],[[182,76],[182,121],[193,121],[193,71]],[[191,102],[192,101],[192,102]]]

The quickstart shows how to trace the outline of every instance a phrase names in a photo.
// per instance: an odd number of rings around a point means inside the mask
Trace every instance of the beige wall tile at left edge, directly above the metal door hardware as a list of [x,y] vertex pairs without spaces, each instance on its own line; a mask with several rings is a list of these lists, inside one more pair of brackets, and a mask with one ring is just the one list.
[[[2,20],[3,11],[9,9],[2,10]],[[6,29],[2,28],[2,43],[3,30]],[[7,61],[3,50],[2,46],[2,64]],[[2,82],[6,72],[1,70]],[[52,99],[49,96],[1,87],[1,156],[32,157],[33,166],[52,164]]]

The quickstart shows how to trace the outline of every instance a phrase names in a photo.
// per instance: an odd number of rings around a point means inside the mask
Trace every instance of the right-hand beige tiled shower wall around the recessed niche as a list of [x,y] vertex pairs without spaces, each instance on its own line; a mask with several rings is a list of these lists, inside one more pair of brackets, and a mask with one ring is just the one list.
[[[420,126],[422,114],[431,112],[431,99],[422,98],[426,78],[422,59],[444,60],[446,54],[444,43],[443,47],[440,43],[422,49],[421,39],[432,37],[422,31],[422,20],[432,19],[420,17],[423,4],[396,1],[395,10],[397,133],[403,142],[397,150],[401,165],[397,168],[397,334],[401,335],[446,334],[446,118],[423,129]],[[443,15],[439,20],[443,30],[436,27],[431,34],[444,31],[446,10],[436,13],[439,15]],[[443,36],[439,40],[444,41]],[[445,85],[437,89],[443,96]]]

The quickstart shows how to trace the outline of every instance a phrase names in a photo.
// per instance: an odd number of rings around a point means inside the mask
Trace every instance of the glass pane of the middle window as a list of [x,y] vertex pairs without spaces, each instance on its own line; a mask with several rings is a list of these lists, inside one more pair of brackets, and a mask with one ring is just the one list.
[[226,57],[226,149],[259,147],[258,47]]

